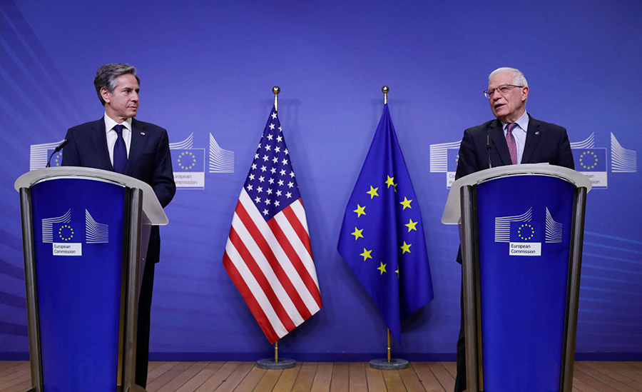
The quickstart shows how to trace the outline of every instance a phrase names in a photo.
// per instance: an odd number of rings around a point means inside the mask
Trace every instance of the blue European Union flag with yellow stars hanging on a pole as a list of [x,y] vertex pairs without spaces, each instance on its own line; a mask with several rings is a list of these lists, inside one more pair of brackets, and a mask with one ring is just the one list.
[[434,296],[422,213],[387,104],[345,208],[338,250],[400,341],[402,319]]

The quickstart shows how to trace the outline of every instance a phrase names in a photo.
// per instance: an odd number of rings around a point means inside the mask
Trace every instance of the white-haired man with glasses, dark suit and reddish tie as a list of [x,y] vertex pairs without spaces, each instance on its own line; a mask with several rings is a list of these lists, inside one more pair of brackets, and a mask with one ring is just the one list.
[[[513,68],[496,69],[489,76],[484,94],[496,119],[464,131],[455,179],[489,169],[489,165],[549,163],[574,169],[566,129],[536,120],[526,113],[529,85],[524,74]],[[457,262],[462,263],[461,249]],[[466,390],[463,291],[461,306],[455,392]]]

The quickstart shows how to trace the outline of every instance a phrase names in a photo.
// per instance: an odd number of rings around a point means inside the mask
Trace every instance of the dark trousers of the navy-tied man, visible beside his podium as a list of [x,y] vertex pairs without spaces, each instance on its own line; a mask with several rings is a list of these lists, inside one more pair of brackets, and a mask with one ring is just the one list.
[[[148,258],[149,260],[149,258]],[[151,313],[151,297],[154,287],[154,266],[148,262],[143,271],[141,297],[138,298],[138,333],[136,335],[136,385],[146,388],[147,368],[149,362],[149,318]]]

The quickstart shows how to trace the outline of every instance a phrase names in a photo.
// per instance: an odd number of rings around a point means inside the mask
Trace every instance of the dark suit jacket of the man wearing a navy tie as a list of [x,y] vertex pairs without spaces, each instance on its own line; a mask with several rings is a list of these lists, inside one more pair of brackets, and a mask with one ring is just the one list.
[[[161,206],[165,207],[176,192],[167,131],[136,119],[132,119],[131,128],[125,175],[149,184]],[[74,126],[68,129],[65,139],[69,143],[63,149],[62,166],[113,171],[107,149],[105,119]],[[161,250],[158,226],[152,228],[149,242],[147,259],[158,263]]]

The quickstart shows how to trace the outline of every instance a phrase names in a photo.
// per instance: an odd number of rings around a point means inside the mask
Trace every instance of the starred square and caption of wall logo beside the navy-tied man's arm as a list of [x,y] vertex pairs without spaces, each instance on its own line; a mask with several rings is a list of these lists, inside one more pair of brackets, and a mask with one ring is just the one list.
[[194,148],[194,134],[170,143],[176,188],[205,189],[205,149]]

